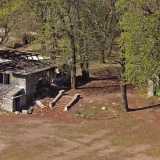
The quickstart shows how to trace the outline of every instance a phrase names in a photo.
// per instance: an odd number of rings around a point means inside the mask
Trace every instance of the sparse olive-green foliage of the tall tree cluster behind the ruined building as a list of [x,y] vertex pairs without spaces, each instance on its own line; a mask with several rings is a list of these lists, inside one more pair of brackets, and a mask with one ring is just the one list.
[[[99,58],[113,42],[114,25],[111,14],[112,1],[73,0],[26,0],[34,25],[30,28],[38,33],[37,42],[42,43],[45,53],[70,55],[70,35],[74,36],[77,62]],[[71,33],[71,28],[73,31]],[[68,34],[69,33],[69,34]],[[42,51],[44,52],[44,51]],[[95,54],[96,53],[96,54]]]

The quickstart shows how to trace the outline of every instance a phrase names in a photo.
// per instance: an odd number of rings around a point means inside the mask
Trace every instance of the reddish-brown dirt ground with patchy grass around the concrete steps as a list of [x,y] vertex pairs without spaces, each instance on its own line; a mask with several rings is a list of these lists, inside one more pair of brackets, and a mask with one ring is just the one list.
[[[160,108],[158,98],[147,98],[128,88],[131,112],[121,107],[119,81],[107,69],[78,79],[81,100],[67,112],[34,106],[33,114],[0,112],[2,160],[159,160]],[[54,97],[42,100],[47,104]],[[102,110],[105,107],[105,110]],[[79,111],[81,114],[75,114]]]

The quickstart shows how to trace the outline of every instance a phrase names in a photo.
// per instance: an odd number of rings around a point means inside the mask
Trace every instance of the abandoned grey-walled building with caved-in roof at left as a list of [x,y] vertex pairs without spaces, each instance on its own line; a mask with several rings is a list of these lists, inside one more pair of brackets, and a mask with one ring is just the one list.
[[53,76],[54,67],[40,61],[38,54],[0,50],[0,109],[26,109],[34,94],[52,83]]

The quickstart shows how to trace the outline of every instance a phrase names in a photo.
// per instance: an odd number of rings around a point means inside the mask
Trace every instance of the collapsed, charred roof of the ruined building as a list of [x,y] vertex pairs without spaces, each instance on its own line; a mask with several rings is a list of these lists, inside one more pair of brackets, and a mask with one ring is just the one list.
[[51,64],[40,61],[38,55],[17,50],[0,50],[0,72],[29,75],[53,68]]

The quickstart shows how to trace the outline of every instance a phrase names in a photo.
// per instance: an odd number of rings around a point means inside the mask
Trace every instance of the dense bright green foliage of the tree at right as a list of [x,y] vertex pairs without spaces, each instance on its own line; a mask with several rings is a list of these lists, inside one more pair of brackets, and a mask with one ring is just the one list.
[[125,76],[128,82],[143,84],[156,80],[160,72],[160,3],[156,0],[118,0],[123,30],[119,45],[125,56]]

